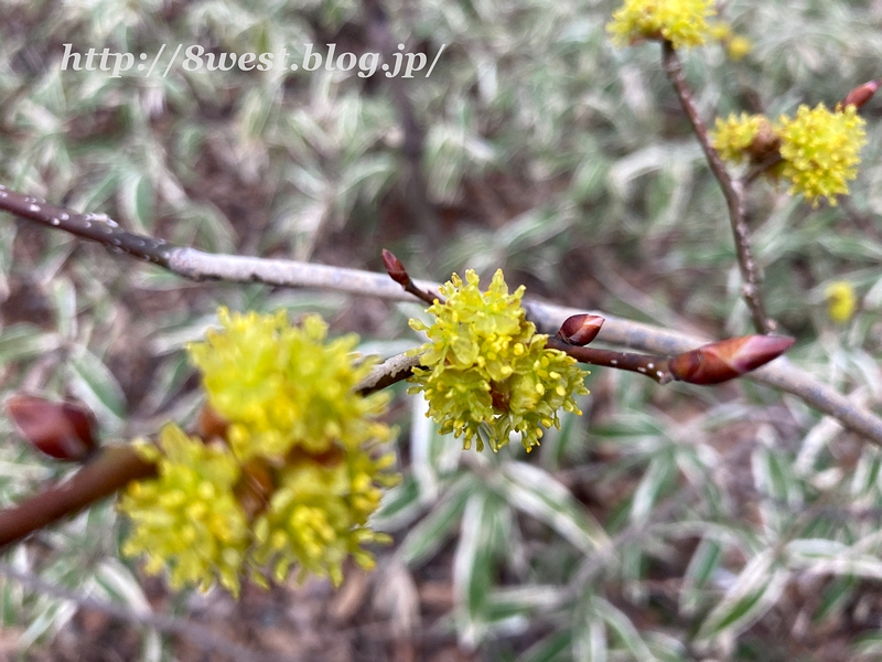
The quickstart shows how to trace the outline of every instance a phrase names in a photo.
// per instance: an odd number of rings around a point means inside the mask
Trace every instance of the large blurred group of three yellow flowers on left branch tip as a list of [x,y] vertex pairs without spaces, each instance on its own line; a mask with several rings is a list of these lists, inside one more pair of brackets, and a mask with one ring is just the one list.
[[120,501],[133,523],[123,553],[168,568],[176,587],[219,580],[237,594],[243,576],[266,586],[292,567],[338,585],[348,556],[372,567],[364,545],[388,542],[367,520],[398,481],[394,457],[377,452],[392,436],[378,419],[388,395],[355,391],[374,361],[353,353],[354,334],[326,341],[316,316],[300,327],[284,312],[219,318],[224,329],[187,350],[223,434],[170,425],[159,445],[139,445],[158,477]]

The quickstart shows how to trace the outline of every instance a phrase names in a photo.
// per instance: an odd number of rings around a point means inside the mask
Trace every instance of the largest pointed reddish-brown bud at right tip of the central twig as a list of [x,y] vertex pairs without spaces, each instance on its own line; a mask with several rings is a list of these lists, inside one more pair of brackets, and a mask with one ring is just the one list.
[[730,338],[674,356],[668,360],[668,370],[681,382],[720,384],[777,359],[794,342],[786,335]]

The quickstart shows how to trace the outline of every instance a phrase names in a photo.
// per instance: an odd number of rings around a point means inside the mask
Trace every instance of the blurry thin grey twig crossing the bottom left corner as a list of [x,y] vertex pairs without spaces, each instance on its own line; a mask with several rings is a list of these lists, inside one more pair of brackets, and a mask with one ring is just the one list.
[[204,626],[192,623],[180,618],[165,616],[163,613],[140,611],[125,605],[98,600],[96,598],[73,591],[63,586],[58,586],[57,584],[45,581],[44,579],[41,579],[31,573],[25,573],[6,563],[0,563],[0,575],[15,579],[28,588],[36,590],[43,595],[52,596],[53,598],[58,598],[61,600],[69,600],[76,604],[80,609],[85,608],[94,611],[100,611],[101,613],[106,613],[116,620],[138,623],[160,632],[180,634],[205,651],[214,651],[233,660],[294,662],[295,660],[301,659],[300,656],[282,655],[279,653],[263,653],[246,648],[230,641],[226,637],[222,637],[220,634],[213,632]]

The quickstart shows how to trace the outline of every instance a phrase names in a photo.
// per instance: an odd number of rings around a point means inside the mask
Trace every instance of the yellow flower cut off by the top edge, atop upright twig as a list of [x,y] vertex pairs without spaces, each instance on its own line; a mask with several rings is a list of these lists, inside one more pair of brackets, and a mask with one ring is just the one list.
[[700,46],[711,35],[707,19],[713,0],[625,0],[606,30],[621,45],[641,39],[664,39],[675,49]]

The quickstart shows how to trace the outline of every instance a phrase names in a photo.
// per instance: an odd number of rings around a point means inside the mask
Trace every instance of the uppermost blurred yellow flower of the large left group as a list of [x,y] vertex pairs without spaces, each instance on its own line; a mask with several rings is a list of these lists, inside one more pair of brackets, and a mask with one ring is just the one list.
[[357,335],[325,343],[327,324],[318,316],[292,328],[283,311],[218,314],[225,330],[208,331],[206,342],[189,351],[208,402],[230,423],[237,457],[282,458],[294,447],[323,452],[388,436],[372,420],[385,409],[387,394],[362,397],[354,391],[374,365],[353,364]]

